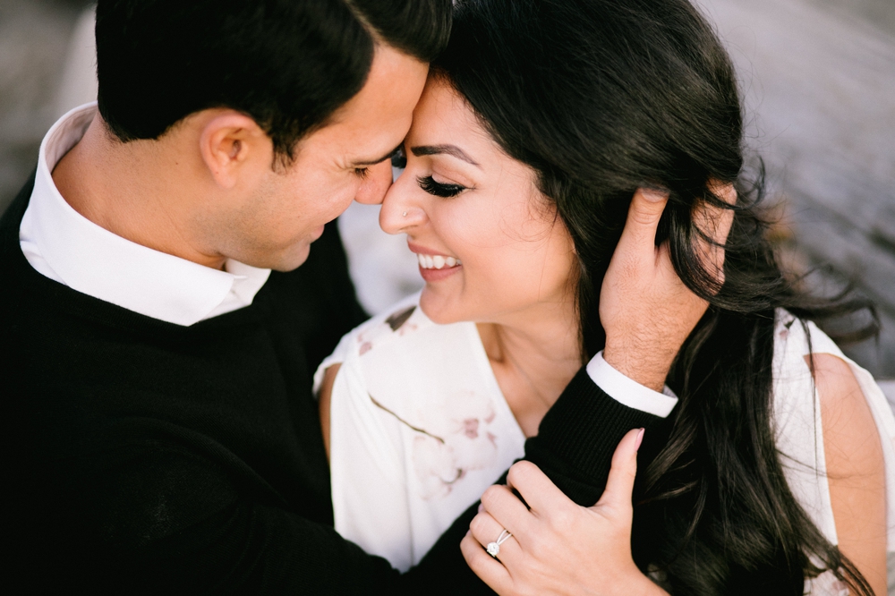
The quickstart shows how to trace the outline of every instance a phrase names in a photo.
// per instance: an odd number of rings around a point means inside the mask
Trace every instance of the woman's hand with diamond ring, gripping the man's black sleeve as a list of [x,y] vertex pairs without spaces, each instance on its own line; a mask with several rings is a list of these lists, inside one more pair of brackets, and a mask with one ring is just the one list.
[[[482,495],[480,513],[460,544],[466,563],[501,596],[665,594],[631,557],[631,491],[642,439],[643,430],[622,438],[606,491],[593,507],[575,505],[536,465],[515,464],[507,486]],[[492,558],[485,548],[505,529],[512,536]]]

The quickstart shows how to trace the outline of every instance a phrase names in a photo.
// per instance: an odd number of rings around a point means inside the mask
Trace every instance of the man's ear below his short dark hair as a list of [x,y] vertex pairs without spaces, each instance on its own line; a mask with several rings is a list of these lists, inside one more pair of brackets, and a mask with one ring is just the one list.
[[273,163],[273,142],[249,116],[226,110],[213,116],[199,138],[209,174],[222,189],[232,189],[245,175],[257,175]]

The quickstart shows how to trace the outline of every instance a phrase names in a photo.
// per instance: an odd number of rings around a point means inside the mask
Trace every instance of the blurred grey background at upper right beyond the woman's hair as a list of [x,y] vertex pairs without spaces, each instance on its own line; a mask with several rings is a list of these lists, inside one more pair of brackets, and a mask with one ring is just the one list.
[[895,3],[702,0],[746,93],[747,135],[803,266],[876,302],[883,331],[848,353],[895,378]]

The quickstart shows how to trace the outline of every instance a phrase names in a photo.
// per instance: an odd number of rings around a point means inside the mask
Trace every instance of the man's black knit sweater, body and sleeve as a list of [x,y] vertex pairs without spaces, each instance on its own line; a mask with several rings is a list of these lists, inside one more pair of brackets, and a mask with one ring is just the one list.
[[[250,307],[180,327],[41,276],[0,220],[6,573],[21,592],[487,592],[457,545],[474,507],[400,575],[333,530],[311,373],[362,322],[335,226]],[[526,444],[582,504],[652,416],[584,373]],[[8,551],[7,551],[8,552]]]

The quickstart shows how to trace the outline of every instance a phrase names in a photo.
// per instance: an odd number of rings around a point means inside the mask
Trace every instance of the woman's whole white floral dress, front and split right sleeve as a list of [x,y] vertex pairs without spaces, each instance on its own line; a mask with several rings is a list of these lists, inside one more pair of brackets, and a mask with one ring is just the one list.
[[[436,325],[415,308],[418,300],[412,296],[345,336],[314,377],[317,391],[325,370],[341,363],[330,413],[336,529],[402,570],[417,563],[456,516],[524,454],[524,435],[475,325]],[[813,324],[808,328],[814,353],[848,362],[874,412],[885,455],[888,549],[895,551],[895,417],[871,375]],[[777,445],[797,501],[836,544],[807,353],[801,323],[779,311],[773,369]],[[831,574],[805,589],[815,596],[847,593]]]

